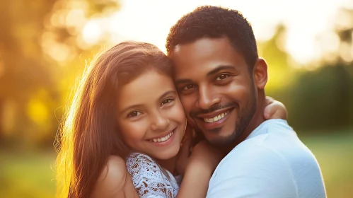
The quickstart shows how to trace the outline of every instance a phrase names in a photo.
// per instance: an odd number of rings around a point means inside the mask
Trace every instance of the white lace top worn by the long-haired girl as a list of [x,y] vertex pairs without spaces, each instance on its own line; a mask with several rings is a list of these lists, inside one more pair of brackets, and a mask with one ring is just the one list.
[[175,177],[166,169],[170,179],[161,170],[161,166],[143,153],[131,153],[126,161],[127,170],[132,177],[139,197],[173,198],[179,190]]

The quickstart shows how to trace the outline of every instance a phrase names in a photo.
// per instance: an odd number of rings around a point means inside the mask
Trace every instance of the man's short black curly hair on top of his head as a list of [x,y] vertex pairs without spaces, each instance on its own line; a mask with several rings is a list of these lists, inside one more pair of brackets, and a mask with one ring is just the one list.
[[243,55],[249,69],[253,69],[258,58],[256,40],[253,28],[239,11],[219,6],[200,6],[187,13],[170,28],[166,42],[168,55],[175,46],[203,37],[228,38],[236,52]]

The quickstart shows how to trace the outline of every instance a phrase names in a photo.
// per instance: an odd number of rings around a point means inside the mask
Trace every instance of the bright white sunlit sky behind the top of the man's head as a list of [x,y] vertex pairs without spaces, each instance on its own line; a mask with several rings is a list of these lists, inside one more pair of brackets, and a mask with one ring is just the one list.
[[[322,59],[324,54],[337,50],[337,45],[323,47],[317,37],[332,37],[332,18],[347,0],[299,0],[299,1],[122,1],[122,8],[112,13],[107,20],[93,20],[83,28],[83,40],[94,45],[107,31],[113,43],[122,40],[142,40],[154,43],[165,50],[168,30],[183,14],[197,6],[219,5],[241,11],[253,24],[257,40],[268,40],[279,23],[287,28],[284,47],[299,64],[308,64]],[[256,6],[255,6],[256,5]],[[320,6],[320,9],[318,9]],[[335,43],[335,42],[334,42]]]

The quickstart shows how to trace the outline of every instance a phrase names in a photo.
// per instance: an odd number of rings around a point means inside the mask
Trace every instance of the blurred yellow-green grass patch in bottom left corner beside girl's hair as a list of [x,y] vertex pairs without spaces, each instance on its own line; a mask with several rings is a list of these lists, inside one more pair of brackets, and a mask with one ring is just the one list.
[[54,152],[0,152],[0,197],[54,197]]

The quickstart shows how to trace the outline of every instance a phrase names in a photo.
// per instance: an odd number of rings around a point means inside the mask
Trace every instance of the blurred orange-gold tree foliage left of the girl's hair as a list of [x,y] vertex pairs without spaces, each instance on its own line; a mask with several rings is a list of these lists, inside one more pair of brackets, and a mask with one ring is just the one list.
[[[60,65],[69,60],[63,54],[80,54],[83,25],[117,6],[112,0],[0,1],[2,143],[52,144],[58,124],[54,111],[62,105],[58,83],[65,73]],[[85,20],[77,21],[78,16]]]

